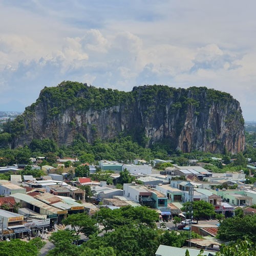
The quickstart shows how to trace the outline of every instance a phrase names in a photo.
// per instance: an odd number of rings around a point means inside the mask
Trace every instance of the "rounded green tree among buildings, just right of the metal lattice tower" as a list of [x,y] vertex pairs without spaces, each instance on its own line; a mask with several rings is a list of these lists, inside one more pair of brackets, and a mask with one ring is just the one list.
[[215,207],[205,201],[194,201],[194,202],[186,202],[183,204],[181,208],[182,211],[189,211],[189,208],[193,209],[193,217],[197,220],[197,223],[202,218],[211,218],[211,216],[215,216]]

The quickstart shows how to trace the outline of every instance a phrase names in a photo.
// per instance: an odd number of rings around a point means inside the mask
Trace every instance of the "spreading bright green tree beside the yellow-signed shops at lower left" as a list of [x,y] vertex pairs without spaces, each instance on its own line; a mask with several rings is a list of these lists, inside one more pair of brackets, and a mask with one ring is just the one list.
[[64,225],[71,225],[72,230],[78,236],[81,232],[86,236],[97,232],[96,220],[87,214],[72,214],[62,221]]

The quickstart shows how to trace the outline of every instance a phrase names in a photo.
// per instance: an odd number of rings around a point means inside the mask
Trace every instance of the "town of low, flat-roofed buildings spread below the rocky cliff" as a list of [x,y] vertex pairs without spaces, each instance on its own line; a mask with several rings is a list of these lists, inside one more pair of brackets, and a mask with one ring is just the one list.
[[[221,158],[210,159],[224,165]],[[250,160],[246,159],[246,168],[253,177],[256,167]],[[188,250],[194,255],[200,249],[215,255],[229,239],[219,230],[223,221],[237,215],[251,217],[256,211],[256,182],[246,184],[249,176],[244,170],[215,173],[195,157],[183,166],[161,159],[127,163],[98,159],[89,163],[83,156],[58,158],[55,167],[42,165],[44,161],[45,157],[34,157],[31,164],[0,167],[1,177],[9,177],[0,180],[2,240],[40,238],[53,248],[49,238],[54,241],[51,237],[61,230],[77,232],[79,224],[72,223],[72,216],[80,216],[82,223],[84,215],[97,225],[90,232],[84,230],[90,228],[81,227],[76,234],[83,234],[82,238],[73,238],[73,246],[77,246],[89,243],[93,233],[104,236],[104,230],[115,229],[102,218],[105,210],[144,206],[154,211],[152,227],[159,232],[186,233],[185,248],[160,244],[155,255],[169,255],[170,250],[183,250],[184,255]],[[44,248],[41,255],[48,252]]]

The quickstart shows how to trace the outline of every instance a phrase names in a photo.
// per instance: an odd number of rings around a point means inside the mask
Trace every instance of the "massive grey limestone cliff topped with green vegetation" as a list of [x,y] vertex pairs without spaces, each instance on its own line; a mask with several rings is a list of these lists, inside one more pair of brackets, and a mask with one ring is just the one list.
[[32,139],[50,138],[62,145],[80,134],[92,143],[120,133],[145,146],[165,140],[183,152],[236,154],[245,146],[239,102],[207,88],[144,86],[124,93],[62,82],[42,90],[18,124],[16,130],[6,129],[13,134],[13,148]]

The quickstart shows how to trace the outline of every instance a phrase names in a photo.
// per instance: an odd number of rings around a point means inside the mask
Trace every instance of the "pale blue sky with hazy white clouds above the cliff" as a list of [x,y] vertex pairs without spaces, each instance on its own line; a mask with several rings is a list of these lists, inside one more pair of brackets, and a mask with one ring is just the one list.
[[256,2],[0,1],[0,111],[63,80],[230,93],[256,120]]

